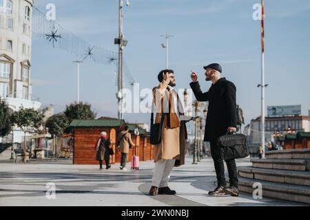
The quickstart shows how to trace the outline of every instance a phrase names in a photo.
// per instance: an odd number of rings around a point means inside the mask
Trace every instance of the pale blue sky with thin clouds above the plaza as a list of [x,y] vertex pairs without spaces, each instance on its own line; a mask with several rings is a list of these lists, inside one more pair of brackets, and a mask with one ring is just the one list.
[[[93,45],[117,51],[118,1],[37,0],[56,5],[56,22]],[[254,21],[258,0],[131,0],[124,11],[129,41],[124,58],[141,89],[158,84],[165,69],[163,34],[171,34],[169,68],[177,88],[189,88],[190,71],[198,73],[207,91],[204,65],[220,63],[223,77],[237,87],[237,104],[245,122],[260,115],[260,21]],[[310,1],[265,1],[265,91],[267,106],[302,105],[310,109]],[[32,98],[56,112],[76,100],[76,56],[32,37]],[[116,67],[88,59],[81,65],[81,100],[92,104],[97,116],[117,117]],[[125,114],[128,122],[149,123],[149,114]]]

